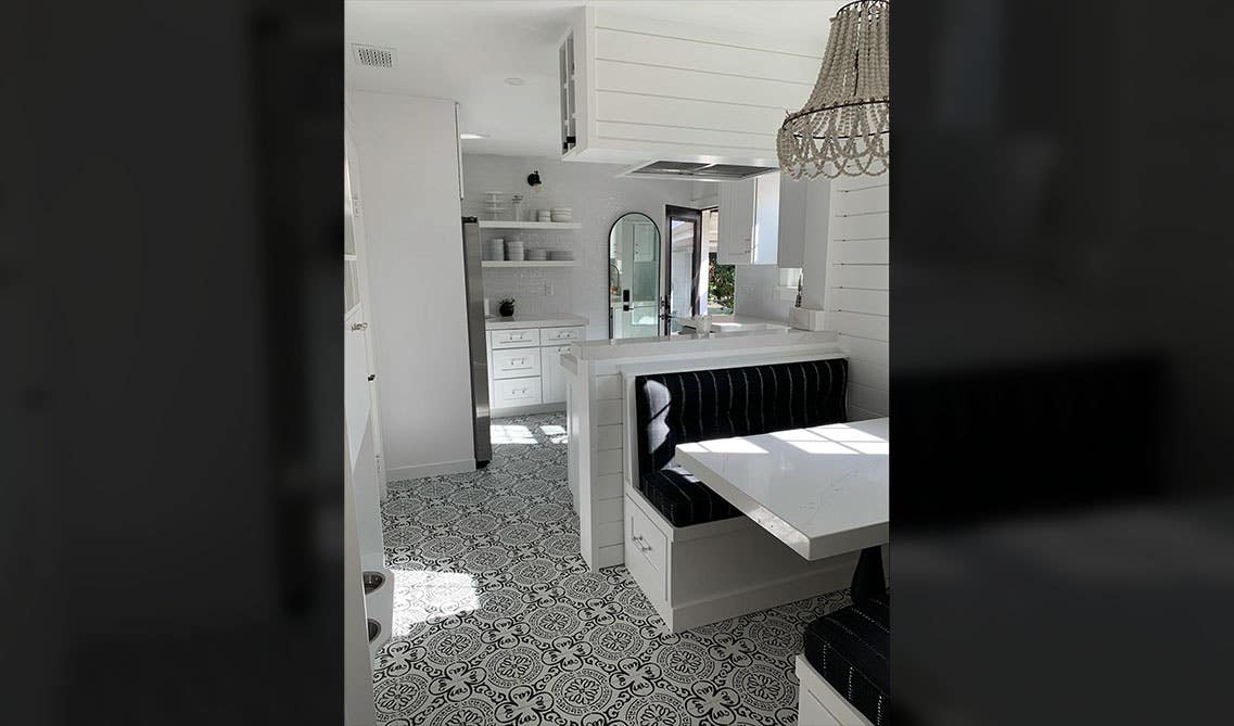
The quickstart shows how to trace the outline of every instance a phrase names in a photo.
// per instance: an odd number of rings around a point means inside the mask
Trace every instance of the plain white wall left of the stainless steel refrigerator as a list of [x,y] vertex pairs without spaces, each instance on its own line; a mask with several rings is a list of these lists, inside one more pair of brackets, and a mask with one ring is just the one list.
[[453,101],[350,91],[389,480],[475,465]]

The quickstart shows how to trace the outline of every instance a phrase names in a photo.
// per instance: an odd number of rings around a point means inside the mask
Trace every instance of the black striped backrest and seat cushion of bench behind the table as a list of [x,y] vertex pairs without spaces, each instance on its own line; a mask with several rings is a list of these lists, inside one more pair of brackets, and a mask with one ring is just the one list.
[[844,358],[636,377],[637,486],[675,527],[734,517],[673,463],[676,444],[843,424],[847,388]]

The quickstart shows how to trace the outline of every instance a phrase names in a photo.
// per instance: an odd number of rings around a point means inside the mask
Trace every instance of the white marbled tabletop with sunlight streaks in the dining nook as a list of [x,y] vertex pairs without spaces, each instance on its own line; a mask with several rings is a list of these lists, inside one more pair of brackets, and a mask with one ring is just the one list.
[[806,559],[887,542],[890,419],[676,446],[676,463]]

